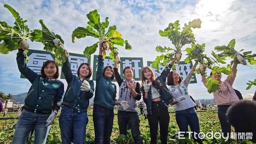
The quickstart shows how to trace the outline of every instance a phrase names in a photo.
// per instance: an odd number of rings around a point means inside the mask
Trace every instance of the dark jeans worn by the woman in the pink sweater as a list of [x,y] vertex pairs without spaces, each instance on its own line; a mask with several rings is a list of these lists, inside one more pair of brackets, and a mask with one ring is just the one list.
[[218,118],[221,123],[221,131],[227,136],[231,132],[231,124],[227,121],[227,109],[230,105],[218,106]]

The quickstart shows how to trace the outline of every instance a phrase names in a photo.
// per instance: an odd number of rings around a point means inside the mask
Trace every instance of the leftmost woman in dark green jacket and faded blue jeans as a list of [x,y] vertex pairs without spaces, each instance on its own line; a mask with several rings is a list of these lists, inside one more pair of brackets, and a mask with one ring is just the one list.
[[47,60],[41,68],[41,75],[27,67],[24,49],[18,49],[17,65],[22,75],[32,84],[25,98],[23,111],[17,122],[12,144],[25,144],[29,133],[34,128],[34,144],[45,144],[49,125],[60,109],[64,84],[57,80],[58,66],[55,61]]

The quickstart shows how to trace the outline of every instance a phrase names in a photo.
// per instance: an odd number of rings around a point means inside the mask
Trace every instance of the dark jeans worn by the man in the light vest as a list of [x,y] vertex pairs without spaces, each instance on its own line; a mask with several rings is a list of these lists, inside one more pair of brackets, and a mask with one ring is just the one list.
[[138,112],[125,112],[119,110],[117,113],[117,118],[119,133],[126,135],[127,125],[129,124],[132,137],[134,138],[134,143],[142,144],[142,140],[140,137],[140,119]]

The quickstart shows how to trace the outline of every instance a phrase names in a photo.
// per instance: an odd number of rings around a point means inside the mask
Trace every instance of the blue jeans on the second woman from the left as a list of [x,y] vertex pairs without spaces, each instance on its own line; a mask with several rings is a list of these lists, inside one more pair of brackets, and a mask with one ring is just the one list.
[[59,125],[61,128],[61,141],[63,144],[85,144],[87,112],[78,112],[67,106],[61,106]]

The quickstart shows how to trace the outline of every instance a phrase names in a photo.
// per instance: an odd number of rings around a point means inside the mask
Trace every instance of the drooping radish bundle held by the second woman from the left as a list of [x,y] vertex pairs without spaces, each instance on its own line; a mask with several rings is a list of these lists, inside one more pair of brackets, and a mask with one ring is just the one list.
[[51,52],[55,56],[55,62],[58,66],[61,66],[66,61],[64,48],[64,40],[61,39],[60,35],[55,35],[55,33],[48,29],[43,20],[39,20],[42,26],[43,36],[40,38],[40,42],[44,44],[44,49]]

